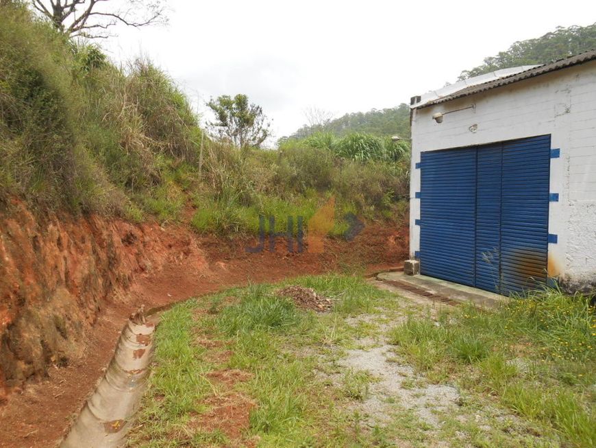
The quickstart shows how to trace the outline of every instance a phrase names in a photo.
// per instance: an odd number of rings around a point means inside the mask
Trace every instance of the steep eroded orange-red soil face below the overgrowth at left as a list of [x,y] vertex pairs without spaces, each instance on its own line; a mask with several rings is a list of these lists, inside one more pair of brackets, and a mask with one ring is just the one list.
[[[138,274],[172,263],[208,268],[180,228],[90,216],[36,216],[21,202],[0,215],[0,389],[20,388],[83,354],[105,307],[126,303]],[[0,395],[0,400],[1,400]]]

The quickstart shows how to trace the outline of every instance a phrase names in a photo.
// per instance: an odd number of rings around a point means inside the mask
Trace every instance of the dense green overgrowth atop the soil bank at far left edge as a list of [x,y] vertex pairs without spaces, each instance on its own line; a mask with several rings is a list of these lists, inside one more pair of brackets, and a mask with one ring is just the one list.
[[70,209],[110,204],[110,185],[84,146],[69,43],[23,5],[0,5],[0,194]]

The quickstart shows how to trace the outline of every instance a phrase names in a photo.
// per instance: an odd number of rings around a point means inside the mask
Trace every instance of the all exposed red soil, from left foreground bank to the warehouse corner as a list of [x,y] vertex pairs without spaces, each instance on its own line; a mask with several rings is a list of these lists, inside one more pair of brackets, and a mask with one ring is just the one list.
[[[51,325],[59,343],[46,359],[49,368],[14,364],[15,372],[30,373],[25,386],[18,381],[4,385],[10,393],[3,396],[0,383],[0,447],[55,446],[103,374],[127,316],[141,304],[164,307],[224,287],[302,274],[382,270],[399,265],[408,248],[407,228],[379,225],[367,226],[353,241],[326,240],[323,253],[312,254],[288,253],[282,239],[275,252],[249,253],[245,248],[256,246],[256,239],[199,237],[184,226],[99,218],[57,224],[55,217],[38,224],[32,215],[27,220],[29,230],[19,231],[22,219],[13,220],[8,232],[0,229],[0,257],[13,256],[10,266],[0,265],[0,274],[16,279],[12,285],[0,279],[0,334],[14,329],[19,312],[38,319],[62,315],[66,323]],[[13,249],[21,245],[21,255],[11,252],[9,243]],[[23,288],[33,298],[51,297],[53,307],[42,301],[23,304]],[[62,302],[56,298],[60,291]],[[72,303],[78,303],[76,309]],[[23,361],[15,357],[18,362]],[[234,406],[222,403],[221,412],[236,412]]]

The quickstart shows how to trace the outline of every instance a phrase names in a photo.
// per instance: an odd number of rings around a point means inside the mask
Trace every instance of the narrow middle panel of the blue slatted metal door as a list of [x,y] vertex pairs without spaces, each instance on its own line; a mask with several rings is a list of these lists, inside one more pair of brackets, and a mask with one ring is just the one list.
[[475,286],[499,292],[501,280],[502,145],[478,148]]

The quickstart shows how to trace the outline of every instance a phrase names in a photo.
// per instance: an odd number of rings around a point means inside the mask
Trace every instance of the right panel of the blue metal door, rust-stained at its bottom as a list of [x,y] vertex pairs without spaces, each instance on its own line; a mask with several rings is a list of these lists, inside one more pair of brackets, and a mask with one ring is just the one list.
[[550,136],[503,143],[501,294],[547,280]]

